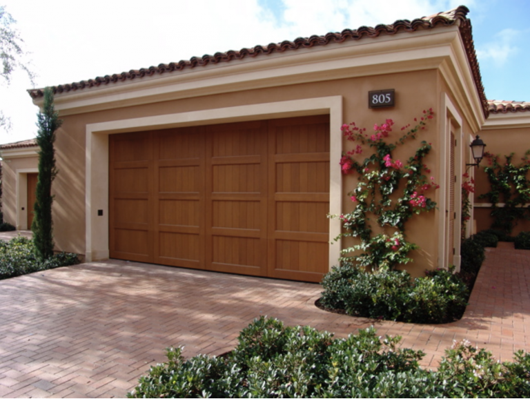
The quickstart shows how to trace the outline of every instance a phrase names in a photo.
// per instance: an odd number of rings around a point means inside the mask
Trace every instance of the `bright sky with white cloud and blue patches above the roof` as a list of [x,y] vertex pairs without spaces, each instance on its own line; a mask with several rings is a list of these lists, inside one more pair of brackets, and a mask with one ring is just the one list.
[[[31,53],[37,87],[415,19],[462,3],[471,11],[488,99],[530,101],[529,0],[173,0],[153,6],[121,0],[3,0]],[[0,86],[1,109],[12,119],[12,130],[0,132],[0,144],[35,137],[38,110],[26,93],[30,87],[21,72],[9,87]]]

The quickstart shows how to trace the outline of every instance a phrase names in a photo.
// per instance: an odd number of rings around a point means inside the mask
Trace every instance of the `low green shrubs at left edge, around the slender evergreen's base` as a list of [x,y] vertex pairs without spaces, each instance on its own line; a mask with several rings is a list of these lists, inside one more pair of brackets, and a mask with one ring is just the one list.
[[46,269],[79,263],[75,253],[58,253],[41,262],[35,255],[35,246],[25,237],[0,241],[0,280]]

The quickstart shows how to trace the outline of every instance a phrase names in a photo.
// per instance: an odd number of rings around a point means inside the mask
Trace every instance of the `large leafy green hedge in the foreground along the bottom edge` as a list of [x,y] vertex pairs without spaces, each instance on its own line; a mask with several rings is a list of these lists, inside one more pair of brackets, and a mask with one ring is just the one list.
[[525,398],[530,355],[496,362],[484,349],[460,342],[446,350],[438,371],[419,367],[422,351],[381,340],[375,329],[345,339],[311,327],[284,327],[259,318],[227,356],[181,356],[150,368],[128,398]]

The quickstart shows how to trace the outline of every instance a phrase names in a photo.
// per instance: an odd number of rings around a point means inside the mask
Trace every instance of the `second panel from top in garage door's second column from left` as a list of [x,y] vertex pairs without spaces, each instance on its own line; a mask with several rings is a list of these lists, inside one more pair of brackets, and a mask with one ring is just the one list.
[[160,193],[199,193],[199,166],[166,166],[159,168]]

